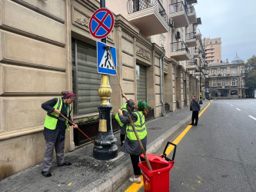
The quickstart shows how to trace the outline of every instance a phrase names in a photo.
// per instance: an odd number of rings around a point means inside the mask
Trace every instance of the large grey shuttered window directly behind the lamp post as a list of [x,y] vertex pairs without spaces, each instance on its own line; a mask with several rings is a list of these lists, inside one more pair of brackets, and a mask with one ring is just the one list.
[[101,74],[98,74],[96,65],[96,47],[72,39],[71,48],[72,88],[76,94],[73,112],[75,115],[96,113],[101,104],[98,96]]

